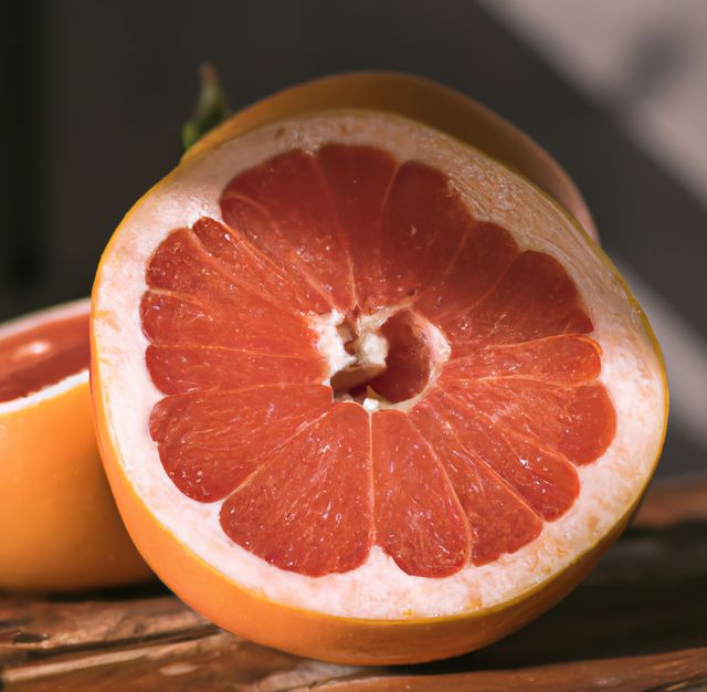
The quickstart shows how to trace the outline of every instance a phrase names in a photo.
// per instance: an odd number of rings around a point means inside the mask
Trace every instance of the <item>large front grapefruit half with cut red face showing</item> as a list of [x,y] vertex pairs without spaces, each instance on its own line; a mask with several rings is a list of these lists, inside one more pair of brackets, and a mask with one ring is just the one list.
[[652,475],[643,313],[572,217],[439,129],[229,127],[136,205],[94,286],[97,430],[138,548],[219,626],[304,656],[517,629]]

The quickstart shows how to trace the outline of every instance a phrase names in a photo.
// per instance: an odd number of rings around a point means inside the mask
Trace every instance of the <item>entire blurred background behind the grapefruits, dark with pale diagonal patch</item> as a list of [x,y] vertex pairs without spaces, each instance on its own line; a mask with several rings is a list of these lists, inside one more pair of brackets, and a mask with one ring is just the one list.
[[707,2],[304,0],[0,8],[0,318],[85,295],[113,229],[177,161],[200,63],[239,108],[346,70],[484,102],[550,150],[664,345],[662,474],[707,469]]

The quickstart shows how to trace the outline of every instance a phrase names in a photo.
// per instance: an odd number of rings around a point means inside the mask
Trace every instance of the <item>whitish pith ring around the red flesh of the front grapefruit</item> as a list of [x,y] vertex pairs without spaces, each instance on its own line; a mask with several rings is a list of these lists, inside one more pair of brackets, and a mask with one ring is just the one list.
[[[600,379],[618,415],[615,439],[601,459],[578,468],[582,490],[569,512],[546,523],[536,541],[492,564],[469,565],[442,579],[412,577],[374,546],[365,565],[345,574],[310,578],[281,570],[226,537],[219,524],[220,502],[201,504],[173,485],[149,437],[150,411],[165,396],[145,365],[148,343],[138,312],[151,254],[176,228],[202,216],[221,220],[218,199],[234,175],[291,148],[314,149],[327,141],[378,146],[400,161],[416,159],[447,171],[475,218],[502,224],[523,249],[547,252],[564,265],[594,322],[591,336],[603,349]],[[454,615],[507,601],[561,572],[610,531],[644,487],[661,445],[666,407],[661,365],[641,316],[608,266],[588,250],[589,242],[523,179],[395,116],[341,112],[303,117],[226,143],[180,167],[140,201],[104,259],[94,291],[96,375],[118,462],[157,521],[183,545],[271,600],[380,619]],[[333,371],[348,355],[336,343],[337,318],[330,315],[319,325],[320,348],[330,355]]]

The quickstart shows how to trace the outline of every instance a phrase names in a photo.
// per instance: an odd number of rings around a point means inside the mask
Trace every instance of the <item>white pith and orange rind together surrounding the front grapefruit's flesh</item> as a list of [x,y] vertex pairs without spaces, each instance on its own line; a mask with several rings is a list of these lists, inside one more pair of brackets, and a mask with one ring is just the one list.
[[[108,479],[137,545],[181,598],[221,627],[305,656],[361,663],[430,660],[484,646],[517,629],[591,568],[625,526],[653,472],[655,463],[645,459],[657,461],[667,392],[645,316],[610,261],[557,202],[445,135],[366,111],[291,118],[234,140],[224,140],[228,124],[222,127],[211,139],[212,148],[188,154],[136,205],[106,249],[96,277],[92,345],[97,429]],[[561,262],[585,302],[589,297],[592,337],[603,350],[600,381],[613,397],[619,426],[609,452],[579,469],[583,490],[577,502],[525,548],[444,579],[404,575],[377,547],[358,569],[310,578],[267,565],[223,534],[207,536],[203,527],[209,522],[218,526],[213,505],[194,508],[165,480],[155,444],[139,422],[149,418],[162,396],[146,382],[148,342],[130,307],[139,304],[145,290],[141,272],[157,244],[171,230],[204,216],[219,219],[218,195],[239,171],[293,148],[316,148],[330,140],[373,144],[399,160],[422,160],[449,172],[475,217],[500,223],[521,248]],[[539,228],[541,232],[534,232]],[[118,345],[118,335],[126,348]],[[631,348],[624,353],[622,344]],[[629,382],[630,389],[636,385],[636,363],[645,370],[644,391],[619,391],[616,382]],[[123,392],[115,386],[118,378]],[[644,399],[647,403],[632,413],[635,401]],[[644,449],[635,450],[635,439]],[[131,461],[136,459],[139,464]],[[604,473],[627,476],[622,487],[612,489],[613,496],[601,482]]]

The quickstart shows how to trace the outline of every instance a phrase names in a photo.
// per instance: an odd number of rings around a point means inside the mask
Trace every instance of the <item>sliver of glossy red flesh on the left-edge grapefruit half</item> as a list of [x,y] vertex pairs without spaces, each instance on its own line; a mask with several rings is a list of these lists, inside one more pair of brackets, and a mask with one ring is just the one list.
[[55,385],[88,367],[88,315],[48,321],[0,338],[0,401]]

